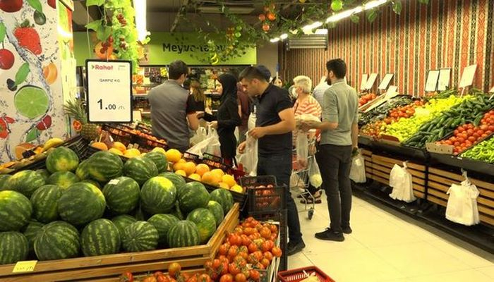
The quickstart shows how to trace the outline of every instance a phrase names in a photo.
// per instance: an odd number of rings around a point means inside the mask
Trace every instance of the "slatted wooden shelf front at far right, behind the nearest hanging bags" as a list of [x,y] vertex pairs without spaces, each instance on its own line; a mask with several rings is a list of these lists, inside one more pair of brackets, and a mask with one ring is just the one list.
[[[480,195],[477,198],[478,213],[481,222],[494,226],[494,183],[469,178],[476,185]],[[427,200],[446,207],[449,195],[447,190],[453,183],[461,183],[464,177],[458,173],[429,168]]]

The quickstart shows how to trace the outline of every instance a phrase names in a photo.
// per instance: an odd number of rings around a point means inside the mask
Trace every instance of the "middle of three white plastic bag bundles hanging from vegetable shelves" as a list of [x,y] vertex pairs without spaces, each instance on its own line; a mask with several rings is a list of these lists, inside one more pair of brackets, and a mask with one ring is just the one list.
[[403,167],[395,164],[390,173],[390,186],[393,188],[390,197],[394,200],[404,202],[414,202],[414,183],[411,180],[411,174],[406,171],[406,162]]

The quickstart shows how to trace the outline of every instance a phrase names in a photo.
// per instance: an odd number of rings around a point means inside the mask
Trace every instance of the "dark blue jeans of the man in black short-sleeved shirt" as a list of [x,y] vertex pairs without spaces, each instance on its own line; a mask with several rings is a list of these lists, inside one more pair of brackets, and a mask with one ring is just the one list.
[[302,240],[299,212],[290,193],[291,152],[282,155],[259,156],[258,176],[275,176],[278,185],[286,185],[288,238],[292,243]]

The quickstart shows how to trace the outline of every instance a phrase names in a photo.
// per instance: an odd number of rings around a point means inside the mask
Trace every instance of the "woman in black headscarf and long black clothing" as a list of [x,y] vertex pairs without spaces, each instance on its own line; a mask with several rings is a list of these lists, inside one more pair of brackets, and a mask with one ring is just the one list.
[[221,94],[221,100],[217,115],[205,113],[204,119],[212,122],[213,128],[217,128],[222,158],[227,164],[233,164],[236,154],[235,128],[241,125],[236,95],[237,81],[233,75],[225,73],[219,76],[218,82],[217,91]]

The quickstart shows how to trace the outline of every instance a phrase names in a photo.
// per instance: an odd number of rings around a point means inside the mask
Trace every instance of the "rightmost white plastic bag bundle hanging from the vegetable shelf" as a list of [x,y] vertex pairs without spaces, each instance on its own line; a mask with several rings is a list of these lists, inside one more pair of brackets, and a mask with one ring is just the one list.
[[478,189],[468,178],[460,185],[452,184],[447,190],[450,197],[447,200],[446,219],[471,226],[480,222],[478,217]]

